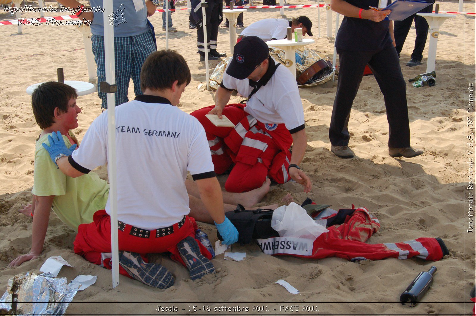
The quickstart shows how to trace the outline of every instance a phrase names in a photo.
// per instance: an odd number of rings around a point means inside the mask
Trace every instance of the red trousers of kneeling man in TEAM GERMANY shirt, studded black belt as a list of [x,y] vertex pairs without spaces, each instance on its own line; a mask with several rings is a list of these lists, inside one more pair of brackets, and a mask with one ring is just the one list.
[[[140,253],[145,262],[148,262],[144,256],[145,254],[169,251],[171,259],[180,262],[186,267],[178,253],[177,244],[188,236],[195,238],[197,224],[193,217],[187,216],[182,227],[178,228],[178,224],[173,226],[174,232],[170,235],[155,237],[155,234],[150,234],[149,238],[142,238],[129,235],[131,226],[128,225],[124,231],[119,230],[118,232],[119,250]],[[211,259],[211,254],[208,250],[199,240],[197,242],[200,246],[200,252],[208,259]],[[94,213],[92,223],[79,225],[78,235],[74,239],[74,252],[89,262],[102,265],[105,268],[111,268],[110,258],[103,258],[102,256],[102,253],[111,252],[111,218],[105,210],[99,210]],[[129,277],[129,274],[120,266],[119,272]]]

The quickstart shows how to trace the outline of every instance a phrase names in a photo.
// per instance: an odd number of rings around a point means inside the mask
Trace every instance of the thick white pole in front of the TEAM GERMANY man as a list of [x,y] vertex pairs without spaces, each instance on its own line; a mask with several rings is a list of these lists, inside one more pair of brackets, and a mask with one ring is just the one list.
[[[109,15],[113,12],[112,1],[104,4],[104,57],[106,68],[106,84],[112,86],[108,92],[108,176],[109,206],[111,217],[111,254],[112,254],[112,287],[119,285],[119,242],[118,242],[118,210],[117,210],[117,179],[116,179],[116,119],[114,115],[116,71],[114,60],[114,28],[109,23]],[[101,88],[102,90],[102,88]],[[114,92],[113,92],[114,91]]]

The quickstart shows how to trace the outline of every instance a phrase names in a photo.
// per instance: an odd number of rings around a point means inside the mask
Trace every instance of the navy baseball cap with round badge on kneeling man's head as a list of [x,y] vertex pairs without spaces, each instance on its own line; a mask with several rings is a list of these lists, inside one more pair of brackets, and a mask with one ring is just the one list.
[[268,45],[258,36],[241,39],[228,63],[227,74],[239,80],[247,78],[269,56]]

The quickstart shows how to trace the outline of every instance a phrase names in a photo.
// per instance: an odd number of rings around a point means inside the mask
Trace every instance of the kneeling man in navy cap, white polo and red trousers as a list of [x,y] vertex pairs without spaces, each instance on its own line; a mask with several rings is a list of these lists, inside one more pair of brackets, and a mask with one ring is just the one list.
[[[248,96],[246,105],[227,105],[234,89]],[[207,114],[226,115],[236,126],[215,126]],[[205,128],[215,172],[225,173],[235,163],[225,183],[228,192],[256,189],[267,177],[278,183],[293,179],[310,191],[311,182],[298,166],[307,138],[296,78],[269,56],[262,39],[247,36],[235,46],[215,106],[191,115]]]

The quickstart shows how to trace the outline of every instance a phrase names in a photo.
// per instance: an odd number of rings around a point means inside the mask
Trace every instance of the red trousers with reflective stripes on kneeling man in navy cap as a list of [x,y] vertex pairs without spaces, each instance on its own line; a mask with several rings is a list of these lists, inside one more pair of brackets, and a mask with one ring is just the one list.
[[213,107],[191,115],[205,128],[215,172],[222,174],[235,163],[225,183],[228,192],[259,188],[266,177],[278,183],[290,180],[289,148],[293,140],[284,124],[263,124],[243,110],[245,105],[230,104],[223,109],[223,115],[236,126],[218,127],[205,116]]

